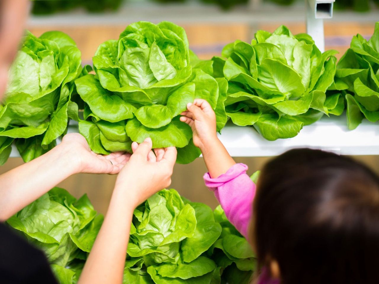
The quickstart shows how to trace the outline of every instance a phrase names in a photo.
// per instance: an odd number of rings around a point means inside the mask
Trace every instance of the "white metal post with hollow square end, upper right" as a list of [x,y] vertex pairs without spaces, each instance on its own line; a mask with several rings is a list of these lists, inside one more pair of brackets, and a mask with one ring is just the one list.
[[325,51],[324,19],[333,17],[335,0],[305,0],[307,33],[312,36],[321,52]]

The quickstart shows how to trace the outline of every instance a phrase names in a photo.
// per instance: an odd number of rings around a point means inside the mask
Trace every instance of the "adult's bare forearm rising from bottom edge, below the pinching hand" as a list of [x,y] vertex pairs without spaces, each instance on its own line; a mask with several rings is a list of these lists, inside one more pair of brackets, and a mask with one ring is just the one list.
[[121,284],[133,211],[133,197],[116,186],[104,223],[86,261],[78,284]]

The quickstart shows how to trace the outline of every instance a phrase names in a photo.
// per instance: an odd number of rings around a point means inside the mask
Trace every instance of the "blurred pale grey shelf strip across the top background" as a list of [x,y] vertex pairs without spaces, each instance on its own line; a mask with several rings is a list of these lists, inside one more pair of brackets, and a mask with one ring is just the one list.
[[[273,15],[275,15],[273,17]],[[141,20],[149,22],[170,21],[175,23],[267,23],[299,22],[305,19],[304,1],[291,6],[261,3],[258,7],[238,5],[230,11],[223,11],[216,5],[198,2],[160,4],[154,2],[125,2],[119,11],[91,14],[83,10],[60,12],[52,15],[31,16],[28,28],[61,26],[106,26],[127,25]],[[370,12],[335,11],[333,21],[376,22],[378,9]]]

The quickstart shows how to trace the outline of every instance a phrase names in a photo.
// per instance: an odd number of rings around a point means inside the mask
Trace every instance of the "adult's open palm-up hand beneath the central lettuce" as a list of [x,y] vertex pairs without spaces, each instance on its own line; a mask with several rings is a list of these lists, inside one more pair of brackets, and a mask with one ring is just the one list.
[[107,173],[115,175],[130,158],[129,153],[115,152],[109,155],[96,154],[88,146],[86,139],[79,133],[66,134],[58,145],[64,149],[75,165],[77,173]]

